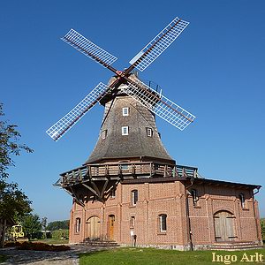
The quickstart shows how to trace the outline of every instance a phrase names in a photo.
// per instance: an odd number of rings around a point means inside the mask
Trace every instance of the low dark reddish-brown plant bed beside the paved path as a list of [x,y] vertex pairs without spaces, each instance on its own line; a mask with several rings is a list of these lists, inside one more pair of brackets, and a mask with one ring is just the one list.
[[65,246],[65,245],[48,245],[45,243],[40,243],[40,242],[23,242],[20,243],[19,246],[17,246],[17,249],[20,250],[35,250],[35,251],[66,251],[70,250],[70,246]]

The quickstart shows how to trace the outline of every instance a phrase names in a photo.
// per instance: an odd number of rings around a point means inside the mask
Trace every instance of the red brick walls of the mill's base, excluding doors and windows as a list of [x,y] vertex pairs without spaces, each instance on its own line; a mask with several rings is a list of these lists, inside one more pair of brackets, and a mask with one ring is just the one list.
[[[189,220],[193,245],[209,245],[216,242],[214,215],[225,210],[235,217],[234,230],[238,241],[261,241],[257,202],[252,191],[230,186],[194,185],[199,196],[196,206],[188,195]],[[138,190],[136,206],[132,205],[131,192]],[[242,208],[239,193],[246,197],[246,208]],[[254,216],[255,205],[255,216]],[[167,231],[160,232],[159,215],[167,215]],[[82,208],[72,206],[70,242],[81,242],[87,238],[86,222],[91,216],[101,220],[101,237],[107,238],[108,216],[115,216],[114,239],[120,244],[132,244],[131,231],[137,235],[138,245],[188,246],[189,231],[186,216],[186,189],[182,182],[118,184],[116,197],[105,202],[88,201]],[[135,217],[134,228],[130,227]],[[74,231],[75,219],[81,218],[81,230]]]

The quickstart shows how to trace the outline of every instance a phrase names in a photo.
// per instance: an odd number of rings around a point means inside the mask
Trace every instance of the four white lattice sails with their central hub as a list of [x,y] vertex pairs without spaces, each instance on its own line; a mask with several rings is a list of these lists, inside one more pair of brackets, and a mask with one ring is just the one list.
[[59,140],[64,133],[68,132],[97,102],[101,102],[102,99],[108,96],[115,97],[118,91],[117,87],[120,87],[123,93],[129,95],[137,102],[140,102],[141,105],[155,113],[155,115],[162,117],[179,130],[184,130],[187,125],[193,122],[195,116],[140,81],[140,79],[133,78],[132,72],[135,69],[140,72],[144,71],[178,38],[178,35],[183,32],[188,24],[189,22],[178,19],[178,17],[173,19],[168,26],[164,27],[151,42],[148,42],[148,44],[133,57],[129,62],[131,65],[124,71],[118,71],[111,66],[111,64],[117,60],[117,57],[114,57],[106,50],[95,45],[95,43],[90,42],[74,29],[71,29],[64,35],[62,40],[71,45],[74,49],[79,50],[79,52],[85,56],[95,60],[95,62],[108,68],[111,72],[114,72],[116,79],[113,79],[108,85],[100,82],[71,111],[57,121],[55,125],[52,125],[46,133],[48,133],[53,140]]

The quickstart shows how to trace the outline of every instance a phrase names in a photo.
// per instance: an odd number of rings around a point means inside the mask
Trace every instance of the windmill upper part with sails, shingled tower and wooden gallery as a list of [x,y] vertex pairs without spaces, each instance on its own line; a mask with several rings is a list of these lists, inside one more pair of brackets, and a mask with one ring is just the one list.
[[[179,130],[194,120],[193,114],[164,95],[155,91],[133,74],[144,71],[153,63],[189,23],[175,18],[130,61],[123,72],[113,64],[117,57],[90,42],[71,29],[62,40],[87,57],[115,73],[108,85],[99,83],[79,104],[52,125],[46,133],[59,140],[97,102],[104,107],[102,127],[92,154],[77,170],[61,174],[57,186],[71,193],[74,200],[106,201],[111,190],[125,178],[176,177],[190,174],[197,177],[196,169],[179,168],[170,157],[155,125],[155,115],[162,117]],[[187,173],[188,172],[188,173]]]

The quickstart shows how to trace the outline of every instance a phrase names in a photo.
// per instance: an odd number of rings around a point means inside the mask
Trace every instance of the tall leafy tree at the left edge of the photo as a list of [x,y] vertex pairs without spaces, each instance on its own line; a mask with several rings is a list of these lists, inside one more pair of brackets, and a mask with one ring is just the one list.
[[32,153],[33,150],[19,143],[20,133],[16,125],[4,120],[3,104],[0,103],[0,247],[4,246],[4,233],[7,225],[15,223],[32,209],[31,201],[19,190],[16,183],[8,183],[8,169],[14,166],[13,157],[21,151]]

